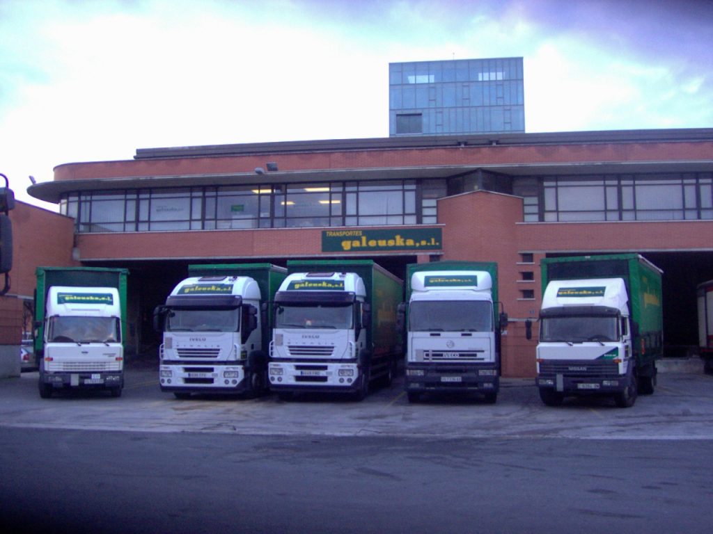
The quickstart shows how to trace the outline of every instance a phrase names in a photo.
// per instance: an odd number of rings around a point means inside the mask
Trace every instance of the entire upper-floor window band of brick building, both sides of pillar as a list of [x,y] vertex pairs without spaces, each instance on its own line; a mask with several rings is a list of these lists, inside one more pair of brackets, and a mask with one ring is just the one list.
[[78,232],[435,224],[437,199],[473,189],[523,197],[525,221],[713,219],[713,175],[621,174],[260,184],[68,194]]

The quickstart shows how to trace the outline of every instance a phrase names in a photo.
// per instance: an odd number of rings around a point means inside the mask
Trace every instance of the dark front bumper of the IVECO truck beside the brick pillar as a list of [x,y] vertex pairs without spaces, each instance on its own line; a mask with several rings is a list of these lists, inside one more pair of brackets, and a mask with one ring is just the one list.
[[494,364],[447,365],[406,362],[406,391],[498,392],[500,377]]

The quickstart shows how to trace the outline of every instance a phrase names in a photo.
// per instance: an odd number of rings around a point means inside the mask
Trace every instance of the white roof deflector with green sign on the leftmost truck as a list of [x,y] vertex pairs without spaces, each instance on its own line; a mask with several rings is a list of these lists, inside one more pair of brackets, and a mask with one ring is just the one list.
[[120,317],[119,291],[116,288],[52,286],[47,293],[46,315]]

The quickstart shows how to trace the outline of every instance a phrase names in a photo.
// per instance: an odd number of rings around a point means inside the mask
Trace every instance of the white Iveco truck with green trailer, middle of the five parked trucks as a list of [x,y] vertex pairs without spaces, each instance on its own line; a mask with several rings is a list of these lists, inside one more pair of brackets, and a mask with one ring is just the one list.
[[401,357],[396,308],[403,284],[371,260],[288,261],[275,295],[270,389],[344,392],[361,400],[390,383]]

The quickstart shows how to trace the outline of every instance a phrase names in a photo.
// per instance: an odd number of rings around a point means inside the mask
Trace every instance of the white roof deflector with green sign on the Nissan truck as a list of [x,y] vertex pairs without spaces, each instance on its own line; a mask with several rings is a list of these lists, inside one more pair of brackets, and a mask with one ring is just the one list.
[[542,309],[566,306],[605,306],[627,313],[626,286],[622,278],[553,280],[545,288]]

